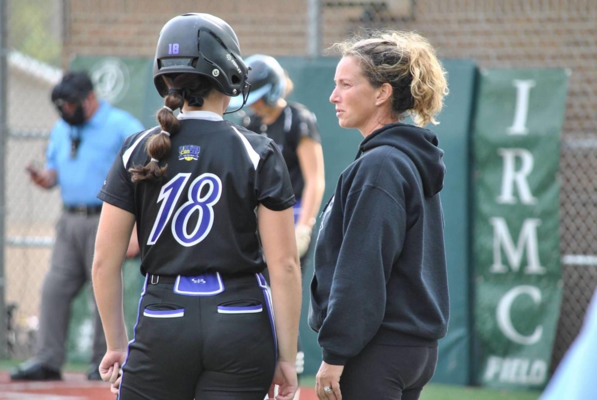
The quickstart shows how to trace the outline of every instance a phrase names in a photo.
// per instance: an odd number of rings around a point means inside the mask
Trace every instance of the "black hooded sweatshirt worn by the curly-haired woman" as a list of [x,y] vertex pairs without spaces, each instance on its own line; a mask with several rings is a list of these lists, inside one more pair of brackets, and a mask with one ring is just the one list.
[[325,207],[309,326],[324,361],[344,365],[374,339],[436,346],[448,326],[444,152],[402,123],[365,137]]

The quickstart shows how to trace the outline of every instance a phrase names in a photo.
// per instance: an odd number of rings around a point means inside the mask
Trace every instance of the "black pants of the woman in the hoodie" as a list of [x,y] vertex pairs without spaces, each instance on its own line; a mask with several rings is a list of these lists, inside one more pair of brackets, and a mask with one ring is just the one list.
[[372,340],[344,366],[342,400],[417,400],[437,361],[437,346],[394,346]]

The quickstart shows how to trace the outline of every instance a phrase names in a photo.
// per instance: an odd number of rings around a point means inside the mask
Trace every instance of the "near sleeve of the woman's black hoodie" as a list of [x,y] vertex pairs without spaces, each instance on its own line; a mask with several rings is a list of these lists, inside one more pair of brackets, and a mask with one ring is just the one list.
[[365,185],[344,205],[343,240],[318,342],[328,364],[344,365],[378,331],[385,314],[386,283],[406,230],[404,200]]

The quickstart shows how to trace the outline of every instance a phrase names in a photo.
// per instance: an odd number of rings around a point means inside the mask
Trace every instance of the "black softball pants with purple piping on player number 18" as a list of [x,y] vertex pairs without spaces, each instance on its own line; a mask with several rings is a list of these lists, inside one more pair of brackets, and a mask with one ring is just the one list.
[[141,294],[119,399],[263,400],[277,358],[263,277],[222,276],[224,291],[207,296],[165,280]]

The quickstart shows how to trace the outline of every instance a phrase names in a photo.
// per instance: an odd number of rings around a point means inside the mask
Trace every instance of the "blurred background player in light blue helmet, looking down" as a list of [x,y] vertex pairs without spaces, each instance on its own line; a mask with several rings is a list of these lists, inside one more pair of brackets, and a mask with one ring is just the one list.
[[[284,98],[292,81],[275,58],[256,54],[247,57],[251,93],[246,104],[252,113],[242,126],[270,137],[278,145],[290,173],[297,203],[293,206],[299,257],[309,249],[315,217],[324,196],[324,155],[315,115],[307,107]],[[238,108],[233,98],[229,108]],[[302,261],[302,260],[301,260]]]

